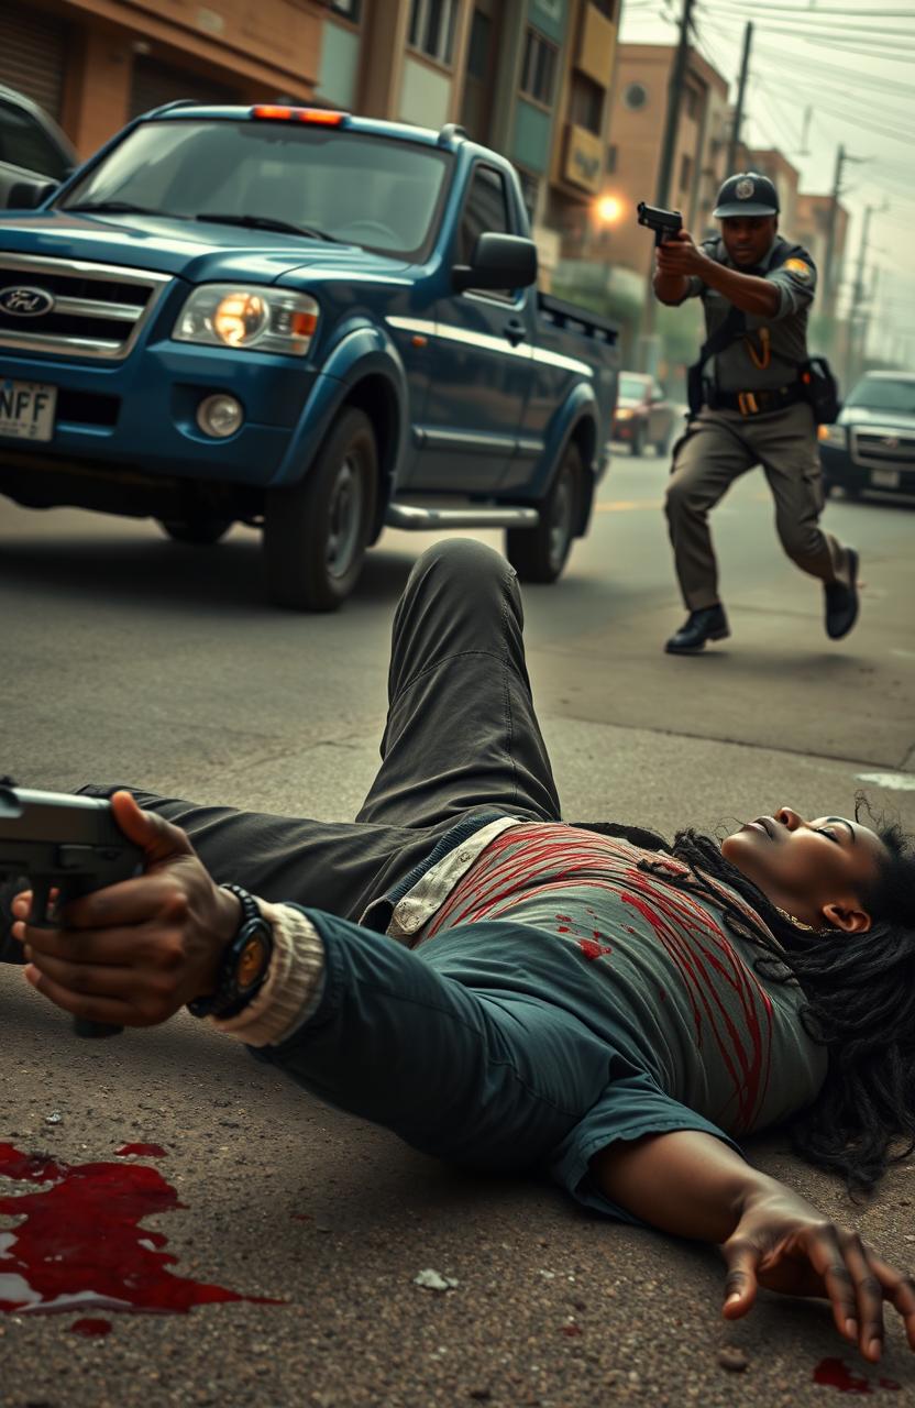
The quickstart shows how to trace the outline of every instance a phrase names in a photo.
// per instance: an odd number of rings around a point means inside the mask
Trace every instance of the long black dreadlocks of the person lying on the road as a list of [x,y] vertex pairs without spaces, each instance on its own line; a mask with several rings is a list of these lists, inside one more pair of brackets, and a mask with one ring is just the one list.
[[[856,819],[862,807],[859,797]],[[686,866],[671,874],[649,856],[639,869],[714,901],[725,926],[764,952],[756,972],[801,988],[809,1038],[825,1046],[829,1066],[815,1101],[788,1124],[797,1153],[845,1177],[852,1195],[870,1194],[890,1164],[915,1149],[915,845],[897,824],[878,825],[887,855],[860,900],[871,917],[864,934],[809,931],[791,922],[762,890],[731,865],[721,843],[694,829],[673,845],[656,832],[614,822],[587,829],[659,850]],[[717,881],[717,883],[715,883]],[[728,900],[733,890],[759,915]],[[774,942],[773,942],[774,941]],[[894,1150],[894,1143],[902,1146]]]

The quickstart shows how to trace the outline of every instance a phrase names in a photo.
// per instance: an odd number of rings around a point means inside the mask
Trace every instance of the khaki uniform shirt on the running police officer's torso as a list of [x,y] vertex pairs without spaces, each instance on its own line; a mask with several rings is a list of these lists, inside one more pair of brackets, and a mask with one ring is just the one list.
[[[707,367],[707,375],[714,375],[721,391],[766,391],[790,386],[797,380],[798,365],[808,358],[807,318],[816,290],[816,266],[807,251],[800,249],[769,273],[776,253],[785,245],[788,241],[776,235],[769,253],[753,270],[778,289],[781,298],[778,311],[774,317],[745,314],[747,335],[736,338],[731,346],[712,358]],[[732,263],[724,241],[718,237],[702,241],[700,248],[726,269],[747,272]],[[709,289],[698,275],[693,275],[681,301],[697,297],[702,300],[707,337],[711,337],[731,313],[732,303],[715,289]]]

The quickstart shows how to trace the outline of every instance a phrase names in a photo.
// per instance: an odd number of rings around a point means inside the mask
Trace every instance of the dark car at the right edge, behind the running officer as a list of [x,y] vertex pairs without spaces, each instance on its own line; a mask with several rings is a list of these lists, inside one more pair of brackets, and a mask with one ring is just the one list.
[[826,493],[915,494],[915,372],[867,372],[819,441]]

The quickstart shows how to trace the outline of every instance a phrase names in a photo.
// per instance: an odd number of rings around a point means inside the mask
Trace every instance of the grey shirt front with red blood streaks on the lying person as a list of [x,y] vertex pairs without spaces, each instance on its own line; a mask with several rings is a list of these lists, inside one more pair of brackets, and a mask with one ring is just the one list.
[[[642,859],[659,865],[662,873],[639,869]],[[671,1052],[691,1050],[693,1073],[687,1071],[684,1084],[698,1081],[714,1101],[702,1112],[726,1117],[728,1128],[742,1133],[756,1126],[767,1102],[773,1002],[752,962],[718,922],[721,907],[684,890],[684,877],[688,870],[679,860],[628,842],[583,828],[525,824],[481,852],[418,945],[493,919],[517,921],[521,935],[552,934],[555,943],[570,946],[595,980],[607,984],[608,1032],[626,998],[636,1022],[638,1014],[650,1014]],[[733,891],[719,888],[722,901],[752,915]],[[632,915],[642,922],[629,922]],[[784,1028],[784,1007],[778,1018]],[[785,1035],[794,1041],[794,1031]],[[677,1064],[680,1059],[674,1057]],[[784,1104],[784,1093],[776,1091],[770,1104]]]

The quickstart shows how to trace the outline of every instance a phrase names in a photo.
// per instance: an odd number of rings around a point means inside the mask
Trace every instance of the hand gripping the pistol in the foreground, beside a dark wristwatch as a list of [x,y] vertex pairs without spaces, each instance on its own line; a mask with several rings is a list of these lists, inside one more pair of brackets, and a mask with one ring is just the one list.
[[213,881],[179,826],[141,811],[125,791],[111,810],[142,848],[145,873],[72,900],[53,929],[24,922],[31,895],[20,894],[13,935],[25,943],[28,981],[66,1012],[155,1026],[213,991],[239,903]]

